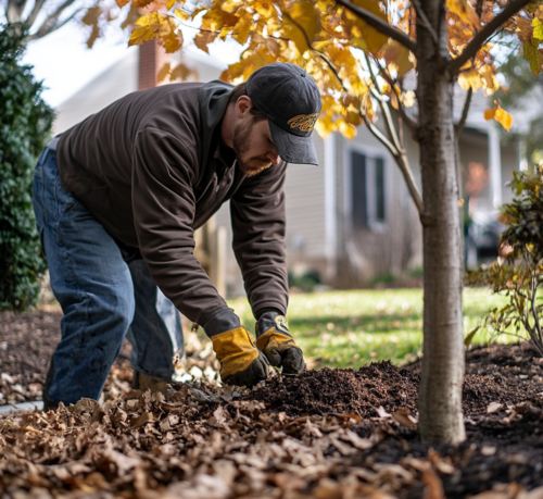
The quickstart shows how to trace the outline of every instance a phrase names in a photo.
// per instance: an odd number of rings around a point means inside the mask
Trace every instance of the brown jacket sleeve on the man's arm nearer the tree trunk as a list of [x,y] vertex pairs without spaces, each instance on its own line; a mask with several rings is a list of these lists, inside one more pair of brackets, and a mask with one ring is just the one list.
[[269,308],[287,313],[286,172],[281,162],[247,178],[230,201],[233,252],[255,317]]

